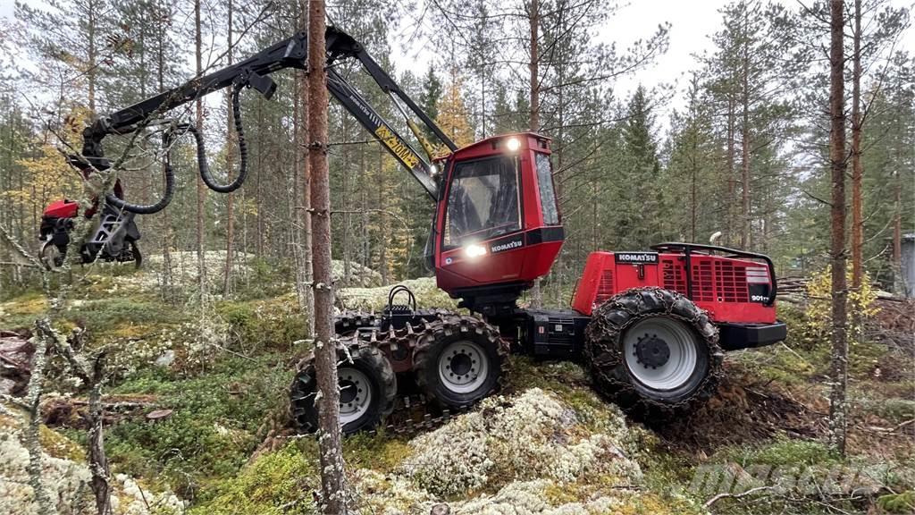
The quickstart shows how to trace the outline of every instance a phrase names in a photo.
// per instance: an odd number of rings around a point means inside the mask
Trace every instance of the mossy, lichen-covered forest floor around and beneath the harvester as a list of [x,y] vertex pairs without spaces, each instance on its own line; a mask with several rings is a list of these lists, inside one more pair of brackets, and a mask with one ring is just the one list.
[[[166,301],[150,268],[80,279],[57,322],[113,349],[104,400],[115,513],[314,512],[317,444],[275,427],[307,351],[292,286],[252,262],[232,300],[200,302],[182,276]],[[362,272],[366,287],[342,290],[343,303],[378,308],[387,289]],[[450,302],[432,279],[410,285],[423,305]],[[5,299],[0,330],[25,334],[45,310],[38,292]],[[915,512],[911,340],[852,345],[843,457],[826,446],[828,343],[798,307],[782,303],[780,318],[790,326],[784,345],[729,354],[716,397],[662,424],[600,399],[574,363],[515,357],[501,395],[435,431],[347,438],[353,503],[365,514],[422,515],[439,502],[453,514]],[[59,356],[48,363],[48,481],[61,512],[81,512],[85,391]],[[3,406],[0,512],[35,512],[16,482],[27,460],[22,421]]]

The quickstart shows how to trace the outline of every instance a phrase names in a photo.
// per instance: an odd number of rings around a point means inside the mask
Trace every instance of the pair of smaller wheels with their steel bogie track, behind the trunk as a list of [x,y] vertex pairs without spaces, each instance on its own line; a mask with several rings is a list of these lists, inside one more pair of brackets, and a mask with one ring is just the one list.
[[[382,419],[393,433],[413,433],[501,388],[509,346],[497,328],[443,310],[400,313],[347,312],[335,323],[343,433],[371,430]],[[370,388],[359,391],[356,379]],[[290,389],[290,414],[300,432],[318,428],[316,393],[310,354],[299,363]]]

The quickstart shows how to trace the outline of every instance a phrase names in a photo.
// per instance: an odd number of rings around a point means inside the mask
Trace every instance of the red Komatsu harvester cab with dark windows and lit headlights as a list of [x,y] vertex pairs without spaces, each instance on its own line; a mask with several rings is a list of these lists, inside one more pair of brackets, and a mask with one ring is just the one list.
[[445,167],[431,236],[437,285],[471,311],[504,312],[563,245],[550,140],[490,137],[458,149]]

